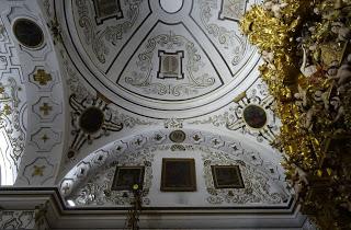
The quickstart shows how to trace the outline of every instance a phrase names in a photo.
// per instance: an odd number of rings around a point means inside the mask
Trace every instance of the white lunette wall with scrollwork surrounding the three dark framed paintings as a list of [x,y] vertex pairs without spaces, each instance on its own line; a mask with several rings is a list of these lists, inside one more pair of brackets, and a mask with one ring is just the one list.
[[[133,196],[127,191],[111,191],[115,165],[146,166],[145,186],[143,187],[143,205],[146,207],[163,206],[245,206],[260,207],[270,205],[288,206],[290,192],[284,182],[271,176],[256,164],[252,158],[242,158],[249,152],[242,150],[223,152],[204,145],[159,145],[146,147],[143,150],[125,150],[117,156],[112,152],[98,151],[86,159],[71,176],[61,181],[61,194],[71,199],[77,206],[125,206],[129,205]],[[257,153],[259,156],[259,153]],[[99,171],[94,169],[93,159],[103,158]],[[102,157],[100,157],[102,159]],[[174,160],[194,159],[196,162],[196,189],[193,192],[162,192],[161,162],[162,159]],[[265,162],[267,163],[267,162]],[[244,188],[215,188],[211,165],[238,165],[242,173]],[[75,179],[75,176],[77,176]],[[77,181],[78,180],[78,181]],[[76,181],[76,182],[75,182]],[[73,185],[72,183],[78,183]],[[188,202],[178,200],[178,198]],[[185,198],[188,197],[188,198]],[[184,204],[183,204],[184,203]]]

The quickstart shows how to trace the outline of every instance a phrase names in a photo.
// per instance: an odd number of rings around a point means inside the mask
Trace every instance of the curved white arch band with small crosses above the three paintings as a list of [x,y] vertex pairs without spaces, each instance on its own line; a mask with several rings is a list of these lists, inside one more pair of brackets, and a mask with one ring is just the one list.
[[[147,130],[137,136],[128,136],[110,142],[69,169],[59,183],[61,195],[69,197],[79,186],[100,172],[105,165],[116,161],[122,154],[136,156],[138,152],[148,151],[149,148],[167,145],[196,146],[218,151],[223,156],[235,156],[269,179],[272,184],[275,184],[274,186],[278,191],[284,191],[285,193],[286,185],[283,176],[280,176],[283,174],[283,169],[280,165],[281,158],[272,149],[258,145],[240,135],[229,136],[230,133],[226,131],[216,134],[191,128],[181,130],[186,134],[186,137],[180,143],[172,141],[170,138],[174,130],[166,128]],[[273,168],[275,170],[274,173],[270,171]]]

